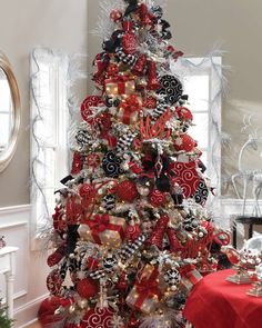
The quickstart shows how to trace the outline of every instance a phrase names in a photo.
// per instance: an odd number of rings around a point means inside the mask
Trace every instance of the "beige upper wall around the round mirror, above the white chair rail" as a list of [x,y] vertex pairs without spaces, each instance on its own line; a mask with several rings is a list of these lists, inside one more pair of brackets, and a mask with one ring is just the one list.
[[[47,46],[69,54],[87,53],[87,0],[0,0],[0,50],[9,58],[18,79],[22,122],[18,150],[0,173],[0,207],[29,203],[29,54]],[[87,70],[87,67],[83,67]],[[87,82],[78,86],[85,96]]]

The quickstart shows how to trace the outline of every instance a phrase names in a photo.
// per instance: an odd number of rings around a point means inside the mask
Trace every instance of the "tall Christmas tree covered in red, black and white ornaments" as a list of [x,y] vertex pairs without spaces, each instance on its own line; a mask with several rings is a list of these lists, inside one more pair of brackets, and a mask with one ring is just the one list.
[[185,299],[218,269],[228,235],[204,209],[193,116],[170,70],[183,53],[162,8],[123,0],[110,19],[59,190],[47,286],[67,328],[184,327]]

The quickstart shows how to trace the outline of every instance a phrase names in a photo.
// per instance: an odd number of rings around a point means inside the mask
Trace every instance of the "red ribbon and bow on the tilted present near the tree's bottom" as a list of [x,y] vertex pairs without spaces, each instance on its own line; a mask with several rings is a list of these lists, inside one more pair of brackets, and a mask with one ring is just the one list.
[[147,298],[152,298],[154,296],[158,296],[159,299],[161,298],[162,292],[159,289],[157,280],[158,276],[159,270],[154,268],[149,278],[143,277],[140,281],[135,282],[135,290],[139,292],[139,298],[134,304],[137,309],[141,309],[141,306]]

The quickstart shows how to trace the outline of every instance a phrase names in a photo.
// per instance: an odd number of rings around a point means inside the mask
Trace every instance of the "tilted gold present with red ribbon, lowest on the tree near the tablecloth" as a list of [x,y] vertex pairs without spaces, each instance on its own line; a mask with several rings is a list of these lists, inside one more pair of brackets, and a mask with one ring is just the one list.
[[147,265],[125,301],[129,307],[149,315],[155,310],[161,297],[159,270],[151,265]]

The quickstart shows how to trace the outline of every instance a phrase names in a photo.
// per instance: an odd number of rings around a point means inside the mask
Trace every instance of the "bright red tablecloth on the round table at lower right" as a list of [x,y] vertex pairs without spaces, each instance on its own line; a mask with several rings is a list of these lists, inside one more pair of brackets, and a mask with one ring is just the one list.
[[262,298],[245,294],[251,285],[225,281],[233,274],[218,271],[194,286],[184,308],[194,328],[262,328]]

